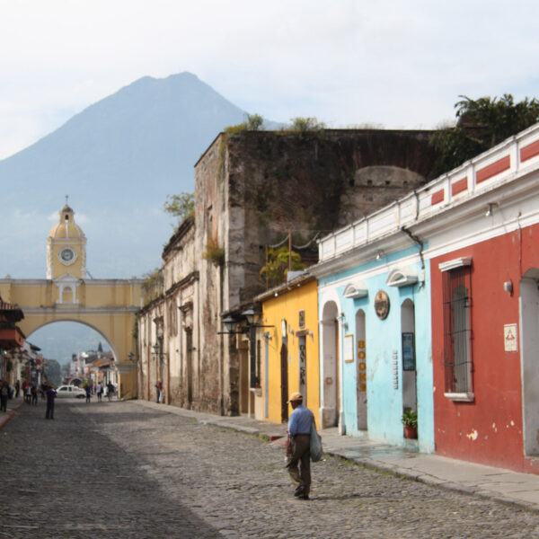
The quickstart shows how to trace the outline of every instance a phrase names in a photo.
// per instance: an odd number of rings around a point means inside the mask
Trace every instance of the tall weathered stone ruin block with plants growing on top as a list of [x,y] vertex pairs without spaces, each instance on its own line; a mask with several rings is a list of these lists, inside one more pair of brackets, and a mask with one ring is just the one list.
[[[283,239],[289,228],[295,243],[306,242],[316,230],[327,234],[431,179],[436,155],[428,141],[425,131],[326,130],[301,137],[220,135],[209,146],[195,166],[194,410],[238,411],[235,340],[217,331],[223,312],[241,310],[263,291],[264,245]],[[209,239],[225,249],[223,266],[204,259]],[[185,402],[183,389],[178,402]]]

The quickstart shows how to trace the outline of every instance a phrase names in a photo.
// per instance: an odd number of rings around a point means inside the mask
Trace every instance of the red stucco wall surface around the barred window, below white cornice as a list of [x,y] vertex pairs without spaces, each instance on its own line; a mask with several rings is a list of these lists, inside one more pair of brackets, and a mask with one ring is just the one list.
[[[538,237],[539,225],[528,226],[431,261],[436,447],[440,455],[537,472],[537,466],[524,456],[521,343],[516,352],[505,351],[504,325],[517,323],[520,327],[519,283],[526,271],[539,268]],[[463,256],[473,260],[474,402],[453,402],[444,396],[442,272],[438,264]],[[503,287],[508,281],[513,283],[512,296]],[[528,330],[538,330],[536,320]],[[536,399],[534,406],[536,410]],[[539,429],[539,420],[535,429]],[[535,438],[536,432],[530,436]]]

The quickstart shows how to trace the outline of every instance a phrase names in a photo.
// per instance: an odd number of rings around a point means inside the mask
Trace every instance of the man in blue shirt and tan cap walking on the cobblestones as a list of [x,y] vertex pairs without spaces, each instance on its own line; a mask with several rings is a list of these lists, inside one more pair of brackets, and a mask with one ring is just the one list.
[[[296,486],[294,496],[309,499],[311,490],[311,425],[313,412],[303,405],[303,395],[290,395],[292,413],[288,420],[287,470]],[[299,464],[299,469],[298,469]]]

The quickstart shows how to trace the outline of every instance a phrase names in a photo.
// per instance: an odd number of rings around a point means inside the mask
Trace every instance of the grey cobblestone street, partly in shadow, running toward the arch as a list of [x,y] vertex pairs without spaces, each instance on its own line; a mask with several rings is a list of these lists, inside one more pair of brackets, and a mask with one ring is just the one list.
[[295,499],[282,446],[134,402],[22,405],[0,429],[0,537],[539,537],[539,514],[315,463]]

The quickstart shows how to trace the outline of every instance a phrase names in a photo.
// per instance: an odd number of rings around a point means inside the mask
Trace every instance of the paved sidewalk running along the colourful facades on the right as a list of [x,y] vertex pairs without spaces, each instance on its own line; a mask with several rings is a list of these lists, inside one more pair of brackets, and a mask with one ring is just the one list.
[[[132,402],[197,420],[199,423],[266,437],[275,444],[284,445],[283,438],[287,431],[285,425],[252,420],[245,416],[216,416],[155,402]],[[328,455],[340,456],[367,468],[395,473],[414,481],[539,511],[539,475],[417,453],[358,437],[340,436],[337,428],[324,429],[320,434],[323,450]]]

